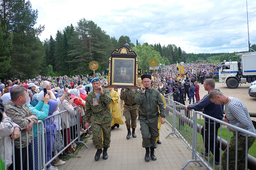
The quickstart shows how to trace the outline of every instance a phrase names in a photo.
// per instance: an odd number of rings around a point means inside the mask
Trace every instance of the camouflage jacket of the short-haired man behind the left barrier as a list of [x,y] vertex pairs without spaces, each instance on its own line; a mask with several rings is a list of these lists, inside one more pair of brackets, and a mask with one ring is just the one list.
[[[35,114],[32,113],[32,111],[27,106],[27,104],[18,106],[17,104],[13,103],[11,100],[8,100],[8,102],[4,104],[4,112],[8,117],[12,119],[14,123],[18,124],[21,128],[27,127],[27,125],[29,125],[29,123],[32,120],[34,120],[34,124],[37,124],[38,122],[37,117],[29,118],[29,116],[35,115]],[[22,144],[21,147],[22,148],[27,146],[27,140],[28,140],[28,144],[32,141],[33,129],[29,130],[27,136],[28,136],[28,139],[26,137],[26,131],[23,129],[21,131],[21,144]],[[15,148],[20,148],[19,140],[20,140],[19,138],[14,140]]]

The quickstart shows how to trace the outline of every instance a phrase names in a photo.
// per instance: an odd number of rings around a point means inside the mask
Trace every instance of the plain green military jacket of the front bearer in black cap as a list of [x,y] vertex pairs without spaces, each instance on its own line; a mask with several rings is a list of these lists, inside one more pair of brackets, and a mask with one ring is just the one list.
[[140,105],[140,115],[146,118],[157,116],[157,106],[159,106],[160,115],[162,118],[165,118],[165,107],[163,104],[163,99],[160,92],[155,90],[155,88],[148,88],[146,89],[145,93],[142,93],[141,90],[138,90],[135,95],[135,103]]

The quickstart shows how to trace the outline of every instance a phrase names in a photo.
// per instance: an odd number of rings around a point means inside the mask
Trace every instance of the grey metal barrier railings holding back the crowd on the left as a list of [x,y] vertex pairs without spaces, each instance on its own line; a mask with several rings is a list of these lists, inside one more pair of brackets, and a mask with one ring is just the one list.
[[[50,125],[51,125],[51,121],[50,118],[56,118],[56,116],[60,116],[61,118],[58,119],[58,122],[61,124],[61,127],[64,127],[64,123],[67,124],[67,119],[65,119],[65,122],[61,121],[63,119],[63,116],[66,116],[67,114],[65,114],[67,112],[67,110],[61,111],[57,114],[48,116],[48,118],[44,119],[44,120],[38,120],[38,124],[37,124],[37,145],[36,143],[34,143],[34,134],[33,135],[33,139],[31,141],[31,143],[28,143],[28,133],[26,133],[26,139],[27,139],[27,145],[26,145],[26,158],[27,158],[27,162],[24,162],[27,164],[27,169],[39,169],[39,170],[44,170],[46,169],[46,166],[49,165],[55,158],[57,158],[61,153],[63,153],[63,151],[65,151],[70,145],[72,145],[73,142],[77,143],[82,143],[84,146],[86,146],[87,148],[89,148],[83,141],[80,141],[80,136],[82,134],[80,134],[80,115],[77,114],[77,107],[74,107],[74,110],[76,111],[76,114],[74,114],[74,116],[71,117],[71,121],[74,120],[75,124],[72,126],[72,130],[71,128],[62,128],[62,130],[57,130],[59,131],[59,133],[62,131],[63,133],[60,133],[60,135],[58,137],[56,137],[56,135],[54,135],[54,141],[55,143],[60,141],[60,138],[63,138],[63,142],[64,140],[69,141],[68,139],[64,139],[64,129],[65,133],[66,133],[66,137],[68,137],[68,133],[72,134],[69,135],[69,137],[72,139],[72,141],[70,140],[70,142],[67,143],[67,145],[65,145],[63,147],[63,149],[58,150],[58,154],[53,155],[51,152],[50,155],[50,160],[47,161],[47,136],[46,136],[46,119],[49,119]],[[70,121],[70,122],[71,122]],[[42,134],[41,134],[41,127],[42,127]],[[90,126],[89,126],[90,128]],[[25,128],[23,128],[25,129]],[[22,129],[22,130],[23,130]],[[31,129],[33,132],[33,128]],[[50,131],[52,131],[51,126],[50,126]],[[86,130],[85,130],[86,131]],[[10,138],[10,136],[8,136]],[[8,137],[0,137],[0,139],[3,139],[4,143],[0,143],[0,149],[2,152],[2,149],[4,151],[4,155],[3,155],[3,161],[7,162],[7,153],[6,151],[12,149],[12,164],[10,166],[12,166],[11,168],[13,170],[15,170],[15,145],[14,145],[14,140],[12,140],[12,148],[6,148],[6,138]],[[59,138],[59,140],[57,140],[57,138]],[[20,131],[20,138],[15,139],[15,140],[19,140],[20,142],[20,146],[21,144],[21,131]],[[52,139],[50,139],[50,143],[52,143]],[[45,144],[45,145],[44,145]],[[31,145],[31,146],[30,146]],[[63,143],[64,145],[64,143]],[[53,147],[56,148],[56,145],[54,145]],[[38,153],[35,155],[35,150],[38,151]],[[53,151],[53,150],[52,150]],[[1,153],[0,152],[0,153]],[[22,155],[22,149],[20,148],[20,155]],[[38,168],[35,168],[35,161],[38,162]],[[22,157],[20,157],[20,165],[16,165],[16,169],[21,169],[22,170]],[[10,167],[9,166],[9,167]],[[4,170],[7,170],[7,165],[5,164],[5,168]]]

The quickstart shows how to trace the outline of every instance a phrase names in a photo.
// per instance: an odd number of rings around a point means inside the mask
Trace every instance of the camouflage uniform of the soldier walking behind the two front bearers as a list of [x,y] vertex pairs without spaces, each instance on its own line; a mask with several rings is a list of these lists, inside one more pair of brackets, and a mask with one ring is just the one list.
[[[127,88],[121,91],[121,100],[124,100],[124,116],[127,129],[136,128],[137,104],[135,103],[136,88]],[[127,104],[129,106],[127,106]],[[133,106],[131,106],[133,105]],[[131,121],[131,123],[130,123]]]

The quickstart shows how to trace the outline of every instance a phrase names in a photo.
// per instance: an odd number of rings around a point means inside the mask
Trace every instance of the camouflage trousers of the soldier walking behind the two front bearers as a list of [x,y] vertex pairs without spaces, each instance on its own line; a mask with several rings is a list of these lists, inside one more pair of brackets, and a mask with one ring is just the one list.
[[135,129],[137,127],[136,119],[137,119],[137,108],[138,105],[135,104],[134,106],[127,106],[124,104],[124,117],[125,117],[125,124],[127,129]]

